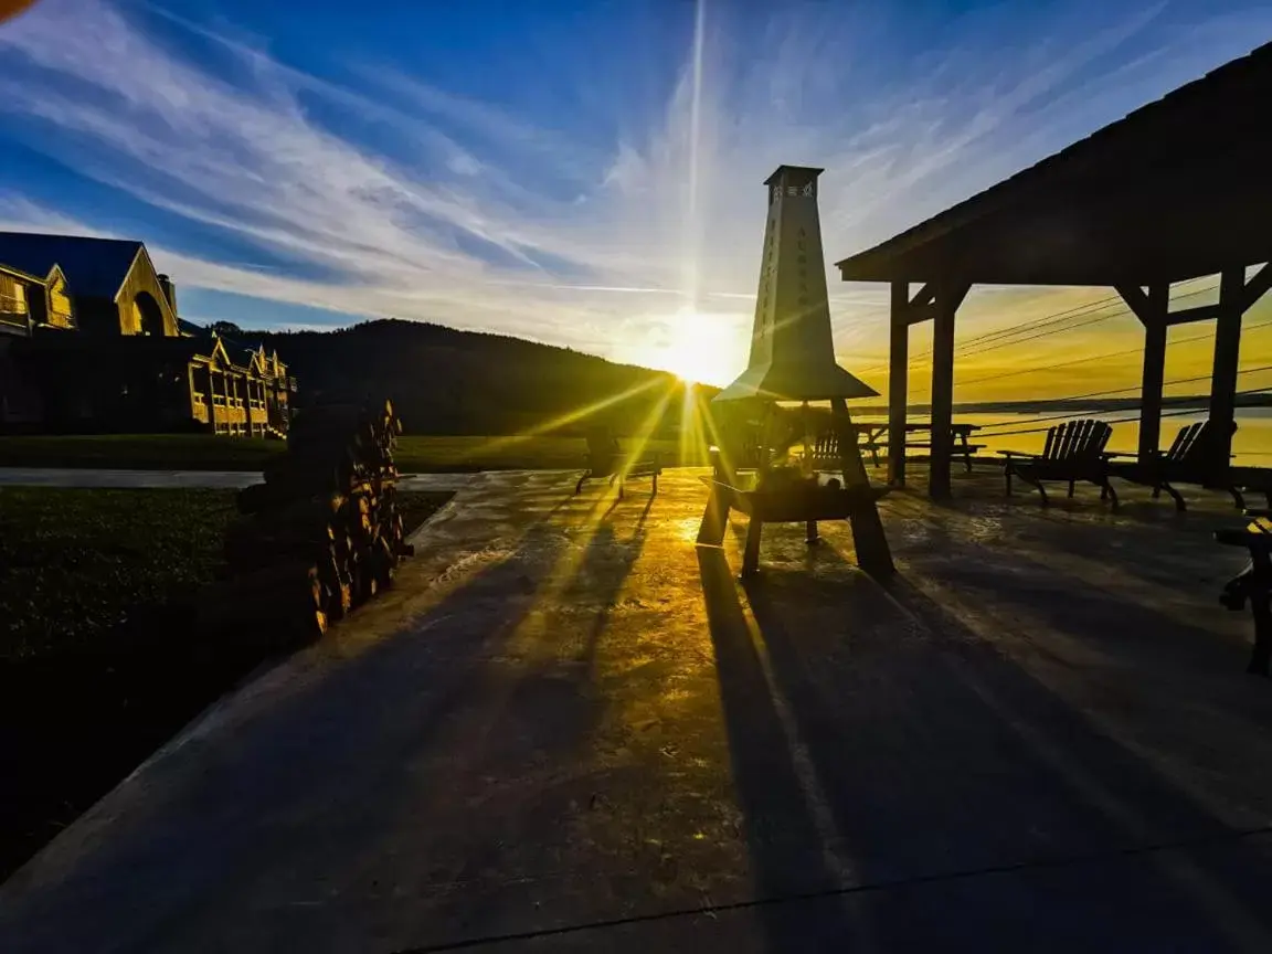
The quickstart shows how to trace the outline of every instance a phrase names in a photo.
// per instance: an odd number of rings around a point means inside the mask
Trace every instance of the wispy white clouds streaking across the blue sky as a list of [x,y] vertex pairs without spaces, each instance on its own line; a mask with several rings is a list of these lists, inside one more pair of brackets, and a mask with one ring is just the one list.
[[[1084,6],[1076,19],[1038,14],[1033,33],[987,56],[982,14],[887,71],[871,48],[879,28],[828,8],[784,6],[757,32],[707,5],[693,36],[675,38],[683,70],[656,121],[614,123],[599,144],[435,78],[364,65],[356,83],[335,83],[262,42],[103,0],[45,0],[0,28],[0,111],[11,136],[186,223],[148,243],[186,286],[653,363],[684,340],[688,308],[731,342],[716,375],[728,377],[745,356],[759,182],[777,164],[827,168],[824,247],[838,258],[1259,33],[1211,18],[1189,34],[1163,27],[1160,8]],[[173,42],[174,29],[190,42]],[[219,55],[195,56],[198,43]],[[1170,53],[1186,46],[1180,66]],[[0,196],[0,219],[118,230],[20,191]],[[218,252],[226,240],[248,252]],[[831,291],[841,354],[879,354],[881,295],[833,276]]]

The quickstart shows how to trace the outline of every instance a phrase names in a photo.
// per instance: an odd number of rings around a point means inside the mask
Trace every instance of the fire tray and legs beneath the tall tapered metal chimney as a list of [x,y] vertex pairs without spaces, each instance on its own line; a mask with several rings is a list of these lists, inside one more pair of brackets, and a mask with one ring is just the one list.
[[766,483],[763,472],[735,474],[730,480],[717,476],[701,480],[711,492],[698,528],[700,544],[717,547],[724,542],[730,510],[750,518],[742,558],[743,577],[759,569],[759,536],[766,523],[803,523],[808,529],[808,543],[817,543],[819,520],[848,520],[857,565],[875,575],[893,571],[892,552],[875,510],[875,501],[889,490],[887,486],[842,486],[837,477],[827,474]]

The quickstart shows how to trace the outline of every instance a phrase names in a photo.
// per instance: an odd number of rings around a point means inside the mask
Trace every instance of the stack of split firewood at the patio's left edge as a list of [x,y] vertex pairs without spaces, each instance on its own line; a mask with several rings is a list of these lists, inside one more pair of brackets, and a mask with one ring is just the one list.
[[387,401],[298,415],[265,483],[239,491],[242,516],[225,536],[229,577],[212,588],[212,614],[247,609],[251,628],[294,645],[388,586],[413,553],[396,499],[401,432]]

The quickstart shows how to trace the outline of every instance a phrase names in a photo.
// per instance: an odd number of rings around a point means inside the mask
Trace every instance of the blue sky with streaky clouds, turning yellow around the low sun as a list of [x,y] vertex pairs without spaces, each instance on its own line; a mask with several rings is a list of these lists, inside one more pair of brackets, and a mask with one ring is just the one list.
[[[0,24],[0,228],[142,239],[190,321],[398,317],[724,384],[763,179],[817,165],[837,356],[885,393],[887,289],[834,261],[1268,38],[1252,0],[37,0]],[[1133,385],[1109,294],[974,289],[957,399]],[[1066,309],[1093,321],[981,337]],[[1168,380],[1206,335],[1172,329]]]

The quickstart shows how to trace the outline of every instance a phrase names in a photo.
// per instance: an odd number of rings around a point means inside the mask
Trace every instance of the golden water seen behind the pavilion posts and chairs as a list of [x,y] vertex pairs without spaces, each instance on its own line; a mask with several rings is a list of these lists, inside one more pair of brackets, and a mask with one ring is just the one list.
[[[1109,440],[1109,450],[1124,450],[1133,453],[1140,445],[1138,420],[1127,421],[1124,418],[1135,415],[1133,411],[1114,411],[1109,413],[1080,413],[1075,417],[1095,417],[1113,424],[1113,438]],[[996,457],[999,450],[1024,450],[1040,453],[1047,440],[1047,429],[1062,424],[1065,418],[1039,421],[1039,417],[1052,417],[1051,413],[958,413],[954,415],[955,424],[978,424],[985,430],[977,431],[972,436],[974,444],[983,444],[978,453],[983,457]],[[876,417],[857,417],[861,422],[883,421]],[[911,421],[918,424],[926,417],[915,416]],[[1161,418],[1161,448],[1165,450],[1175,439],[1180,427],[1186,427],[1194,421],[1206,420],[1205,411]],[[1016,432],[1033,431],[1033,432]],[[922,438],[918,438],[922,440]],[[1233,453],[1236,455],[1234,463],[1250,467],[1272,467],[1272,407],[1240,407],[1236,410],[1236,434],[1233,436]]]

